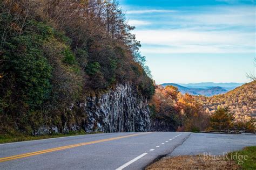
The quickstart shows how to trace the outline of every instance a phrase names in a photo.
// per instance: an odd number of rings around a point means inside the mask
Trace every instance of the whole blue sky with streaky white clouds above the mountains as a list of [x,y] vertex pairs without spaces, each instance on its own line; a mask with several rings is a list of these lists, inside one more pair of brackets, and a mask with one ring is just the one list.
[[156,83],[248,82],[254,0],[119,0]]

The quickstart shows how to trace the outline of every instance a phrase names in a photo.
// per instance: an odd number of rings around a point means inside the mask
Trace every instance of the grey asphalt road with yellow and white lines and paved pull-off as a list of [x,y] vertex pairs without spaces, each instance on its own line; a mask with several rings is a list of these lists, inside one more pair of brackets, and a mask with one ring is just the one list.
[[[205,148],[212,151],[220,147],[212,144],[214,140],[223,142],[231,137],[204,134],[197,139],[197,135],[188,132],[101,133],[0,144],[0,169],[142,169],[161,155],[196,153],[197,145],[204,146],[200,151]],[[235,140],[238,144],[228,147],[227,151],[256,145],[255,136],[235,136]],[[228,142],[232,145],[233,141]]]

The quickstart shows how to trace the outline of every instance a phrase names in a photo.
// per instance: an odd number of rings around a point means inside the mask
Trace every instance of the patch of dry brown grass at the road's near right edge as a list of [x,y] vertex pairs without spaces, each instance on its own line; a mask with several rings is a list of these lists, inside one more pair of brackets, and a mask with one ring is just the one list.
[[182,155],[165,157],[150,165],[148,169],[240,169],[234,161],[204,158],[203,155]]

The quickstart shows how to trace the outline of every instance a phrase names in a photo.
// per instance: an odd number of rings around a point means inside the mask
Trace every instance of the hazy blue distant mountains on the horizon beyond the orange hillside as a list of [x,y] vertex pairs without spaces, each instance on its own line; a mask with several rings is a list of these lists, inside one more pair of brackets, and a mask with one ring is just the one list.
[[205,88],[190,88],[190,87],[184,87],[176,83],[164,83],[161,84],[161,86],[174,86],[177,87],[178,90],[182,93],[188,93],[191,95],[204,95],[204,96],[213,96],[218,94],[224,94],[227,93],[228,90],[222,88],[222,87],[205,87]]

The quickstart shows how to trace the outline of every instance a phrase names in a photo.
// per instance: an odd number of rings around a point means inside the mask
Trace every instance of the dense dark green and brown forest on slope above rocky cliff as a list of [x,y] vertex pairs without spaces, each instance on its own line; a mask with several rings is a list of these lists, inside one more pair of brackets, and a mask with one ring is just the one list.
[[133,29],[114,0],[1,1],[0,132],[83,122],[84,110],[71,104],[118,83],[151,98]]

